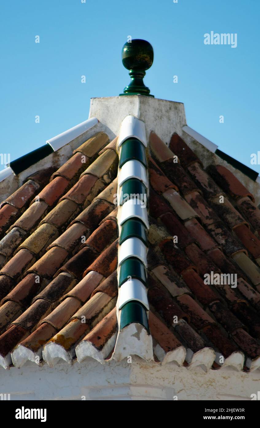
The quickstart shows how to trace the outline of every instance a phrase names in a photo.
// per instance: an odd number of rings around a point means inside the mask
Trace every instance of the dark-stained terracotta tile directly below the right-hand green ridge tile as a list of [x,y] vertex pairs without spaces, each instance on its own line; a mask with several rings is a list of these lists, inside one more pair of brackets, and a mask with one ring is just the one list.
[[214,180],[219,184],[219,186],[224,189],[229,195],[234,198],[241,196],[249,196],[250,199],[254,202],[254,196],[248,192],[248,190],[243,186],[242,183],[237,179],[237,177],[232,174],[229,169],[225,168],[222,165],[210,165],[208,167],[210,175]]

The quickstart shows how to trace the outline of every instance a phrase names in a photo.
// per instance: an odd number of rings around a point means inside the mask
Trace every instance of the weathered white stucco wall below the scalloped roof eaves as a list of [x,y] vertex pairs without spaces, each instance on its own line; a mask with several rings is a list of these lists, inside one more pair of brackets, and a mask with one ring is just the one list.
[[28,363],[0,369],[0,393],[11,400],[251,400],[260,390],[260,370],[222,368],[205,372],[175,363],[161,366],[133,357],[101,365],[93,359],[50,368]]

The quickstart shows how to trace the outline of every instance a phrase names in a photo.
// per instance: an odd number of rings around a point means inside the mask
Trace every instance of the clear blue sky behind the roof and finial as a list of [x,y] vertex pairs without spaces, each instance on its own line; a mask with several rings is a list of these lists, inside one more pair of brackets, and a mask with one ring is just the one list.
[[[154,48],[151,93],[184,102],[191,128],[260,172],[259,1],[82,1],[1,2],[0,153],[15,160],[88,119],[91,97],[123,92],[131,36]],[[204,45],[210,31],[237,33],[237,48]]]

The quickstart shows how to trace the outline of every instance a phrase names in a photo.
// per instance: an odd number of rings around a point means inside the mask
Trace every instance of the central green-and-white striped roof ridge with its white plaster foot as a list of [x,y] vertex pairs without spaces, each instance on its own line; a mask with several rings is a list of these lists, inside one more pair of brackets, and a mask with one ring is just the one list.
[[117,151],[119,329],[113,358],[120,361],[130,355],[138,355],[149,361],[153,360],[153,347],[147,300],[146,253],[149,223],[146,202],[149,181],[144,122],[134,116],[126,116],[123,119]]

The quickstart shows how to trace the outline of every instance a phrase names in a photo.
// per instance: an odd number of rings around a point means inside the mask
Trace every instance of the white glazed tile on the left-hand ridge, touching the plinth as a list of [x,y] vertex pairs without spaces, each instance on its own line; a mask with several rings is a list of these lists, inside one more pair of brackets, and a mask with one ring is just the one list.
[[65,146],[65,144],[70,143],[70,141],[74,140],[76,137],[79,137],[79,135],[88,131],[88,129],[92,128],[97,123],[98,120],[96,117],[92,117],[91,119],[87,119],[84,122],[79,123],[79,125],[73,126],[73,128],[56,135],[56,137],[50,138],[50,140],[47,140],[46,143],[53,148],[54,152],[56,152],[56,150]]

